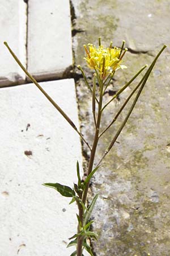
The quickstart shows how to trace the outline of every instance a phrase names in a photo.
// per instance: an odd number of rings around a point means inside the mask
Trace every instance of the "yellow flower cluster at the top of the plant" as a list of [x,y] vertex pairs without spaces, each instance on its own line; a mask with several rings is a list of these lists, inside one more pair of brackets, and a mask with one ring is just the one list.
[[[100,45],[98,48],[93,44],[88,44],[88,49],[84,45],[84,49],[87,56],[84,59],[87,61],[88,67],[99,71],[101,79],[105,79],[109,73],[116,71],[117,69],[126,68],[125,65],[121,65],[122,57],[124,53],[121,54],[121,48],[111,46],[104,48]],[[127,49],[125,50],[127,51]]]

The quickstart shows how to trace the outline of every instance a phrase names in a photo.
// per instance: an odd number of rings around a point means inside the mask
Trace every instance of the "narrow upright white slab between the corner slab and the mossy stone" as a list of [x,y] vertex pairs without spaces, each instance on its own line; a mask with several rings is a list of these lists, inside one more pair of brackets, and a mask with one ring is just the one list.
[[60,78],[72,64],[69,0],[28,1],[28,71]]

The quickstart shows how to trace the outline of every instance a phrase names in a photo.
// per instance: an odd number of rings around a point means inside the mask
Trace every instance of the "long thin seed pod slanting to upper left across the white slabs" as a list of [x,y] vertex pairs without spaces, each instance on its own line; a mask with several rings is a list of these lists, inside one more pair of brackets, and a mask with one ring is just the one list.
[[40,84],[35,80],[35,78],[33,78],[33,76],[31,74],[29,74],[29,72],[27,71],[27,69],[24,68],[23,64],[20,62],[20,60],[18,59],[18,57],[16,57],[15,53],[12,51],[12,49],[8,46],[7,42],[4,42],[5,46],[8,48],[8,51],[11,53],[11,55],[14,57],[15,61],[18,63],[18,65],[20,66],[20,68],[23,69],[23,71],[25,72],[25,74],[29,77],[29,79],[33,82],[33,84],[35,84],[37,86],[37,88],[39,88],[39,90],[44,94],[44,96],[51,102],[51,104],[54,106],[54,108],[56,108],[58,110],[58,112],[66,119],[67,122],[69,122],[69,124],[73,127],[73,129],[76,131],[76,133],[79,134],[79,136],[82,138],[82,140],[84,141],[84,143],[86,143],[86,145],[88,146],[88,148],[91,150],[90,145],[88,144],[88,142],[86,142],[86,139],[84,139],[83,135],[80,133],[80,131],[76,128],[75,124],[73,123],[73,121],[71,121],[71,119],[68,117],[68,115],[63,112],[63,110],[56,104],[56,102],[48,95],[48,93],[45,92],[44,89],[42,89],[42,87],[40,86]]

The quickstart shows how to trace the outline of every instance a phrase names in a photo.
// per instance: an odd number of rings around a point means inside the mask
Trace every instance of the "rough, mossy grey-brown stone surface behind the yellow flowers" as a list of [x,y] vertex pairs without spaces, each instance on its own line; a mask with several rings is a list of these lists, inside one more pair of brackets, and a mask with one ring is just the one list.
[[[77,1],[73,0],[73,38],[75,65],[81,64],[91,83],[91,72],[84,65],[83,44],[97,44],[102,36],[106,46],[126,40],[130,48],[125,56],[127,70],[118,71],[105,94],[105,102],[144,64],[150,64],[163,44],[169,46],[169,1]],[[92,24],[92,26],[90,26]],[[81,32],[82,31],[82,32]],[[96,256],[168,256],[169,226],[169,48],[155,66],[136,109],[125,129],[105,158],[92,181],[92,193],[100,197],[94,212]],[[78,71],[75,71],[78,73]],[[109,124],[122,102],[134,88],[131,85],[103,115],[101,129]],[[84,81],[76,83],[82,132],[92,141],[91,94]],[[107,134],[101,137],[96,163],[111,142],[125,112]],[[90,129],[91,128],[91,129]],[[89,152],[84,147],[84,157]],[[86,169],[86,163],[84,164]]]

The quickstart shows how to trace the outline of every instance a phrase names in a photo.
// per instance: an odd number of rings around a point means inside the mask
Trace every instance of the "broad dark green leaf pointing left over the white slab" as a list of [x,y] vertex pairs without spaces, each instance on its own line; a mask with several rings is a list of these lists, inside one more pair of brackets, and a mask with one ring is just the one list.
[[66,196],[66,197],[75,196],[74,190],[71,189],[70,187],[65,186],[65,185],[61,185],[59,183],[44,183],[42,185],[44,185],[46,187],[49,187],[49,188],[56,189],[59,193],[61,193],[62,196]]

